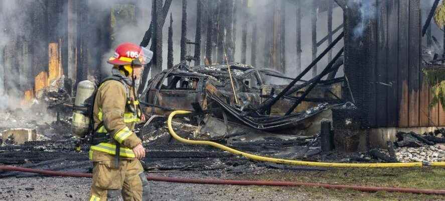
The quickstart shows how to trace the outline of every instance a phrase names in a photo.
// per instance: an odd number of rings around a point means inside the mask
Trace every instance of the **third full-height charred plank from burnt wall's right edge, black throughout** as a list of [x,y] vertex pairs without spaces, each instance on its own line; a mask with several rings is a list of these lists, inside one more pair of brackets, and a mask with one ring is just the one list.
[[397,127],[398,125],[398,97],[397,97],[397,70],[398,70],[398,26],[399,26],[399,5],[397,1],[388,2],[388,83],[392,87],[387,87],[387,126]]

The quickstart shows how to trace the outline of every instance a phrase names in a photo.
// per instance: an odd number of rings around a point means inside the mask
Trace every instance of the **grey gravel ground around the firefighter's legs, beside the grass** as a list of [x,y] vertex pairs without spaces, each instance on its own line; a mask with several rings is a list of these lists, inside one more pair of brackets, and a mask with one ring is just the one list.
[[[157,176],[209,177],[201,172],[161,173]],[[233,176],[233,175],[232,175]],[[246,176],[246,175],[243,175]],[[255,179],[255,175],[247,175]],[[0,200],[87,200],[91,178],[32,177],[0,179]],[[309,198],[299,187],[206,185],[150,182],[151,200],[336,200],[329,197]]]

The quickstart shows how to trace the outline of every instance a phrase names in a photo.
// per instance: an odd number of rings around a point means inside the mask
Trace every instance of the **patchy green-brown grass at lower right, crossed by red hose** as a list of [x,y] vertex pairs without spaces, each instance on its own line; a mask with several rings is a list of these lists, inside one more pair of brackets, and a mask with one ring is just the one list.
[[[261,175],[237,179],[282,180],[343,185],[388,186],[424,189],[445,189],[445,168],[332,168],[325,172],[292,172],[270,170]],[[262,187],[256,188],[260,190]],[[296,190],[294,190],[294,188]],[[320,187],[292,187],[290,191],[305,192],[310,198],[335,200],[445,200],[441,195],[395,192],[361,192]]]

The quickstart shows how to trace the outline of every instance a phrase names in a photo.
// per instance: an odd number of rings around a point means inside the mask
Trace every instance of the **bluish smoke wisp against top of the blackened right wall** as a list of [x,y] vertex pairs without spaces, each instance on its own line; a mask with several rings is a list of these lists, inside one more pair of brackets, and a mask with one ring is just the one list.
[[360,22],[354,28],[354,37],[358,38],[363,35],[365,28],[369,21],[374,20],[376,18],[376,3],[372,3],[372,1],[367,0],[354,0],[350,1],[349,4],[359,4],[359,12],[360,12]]

